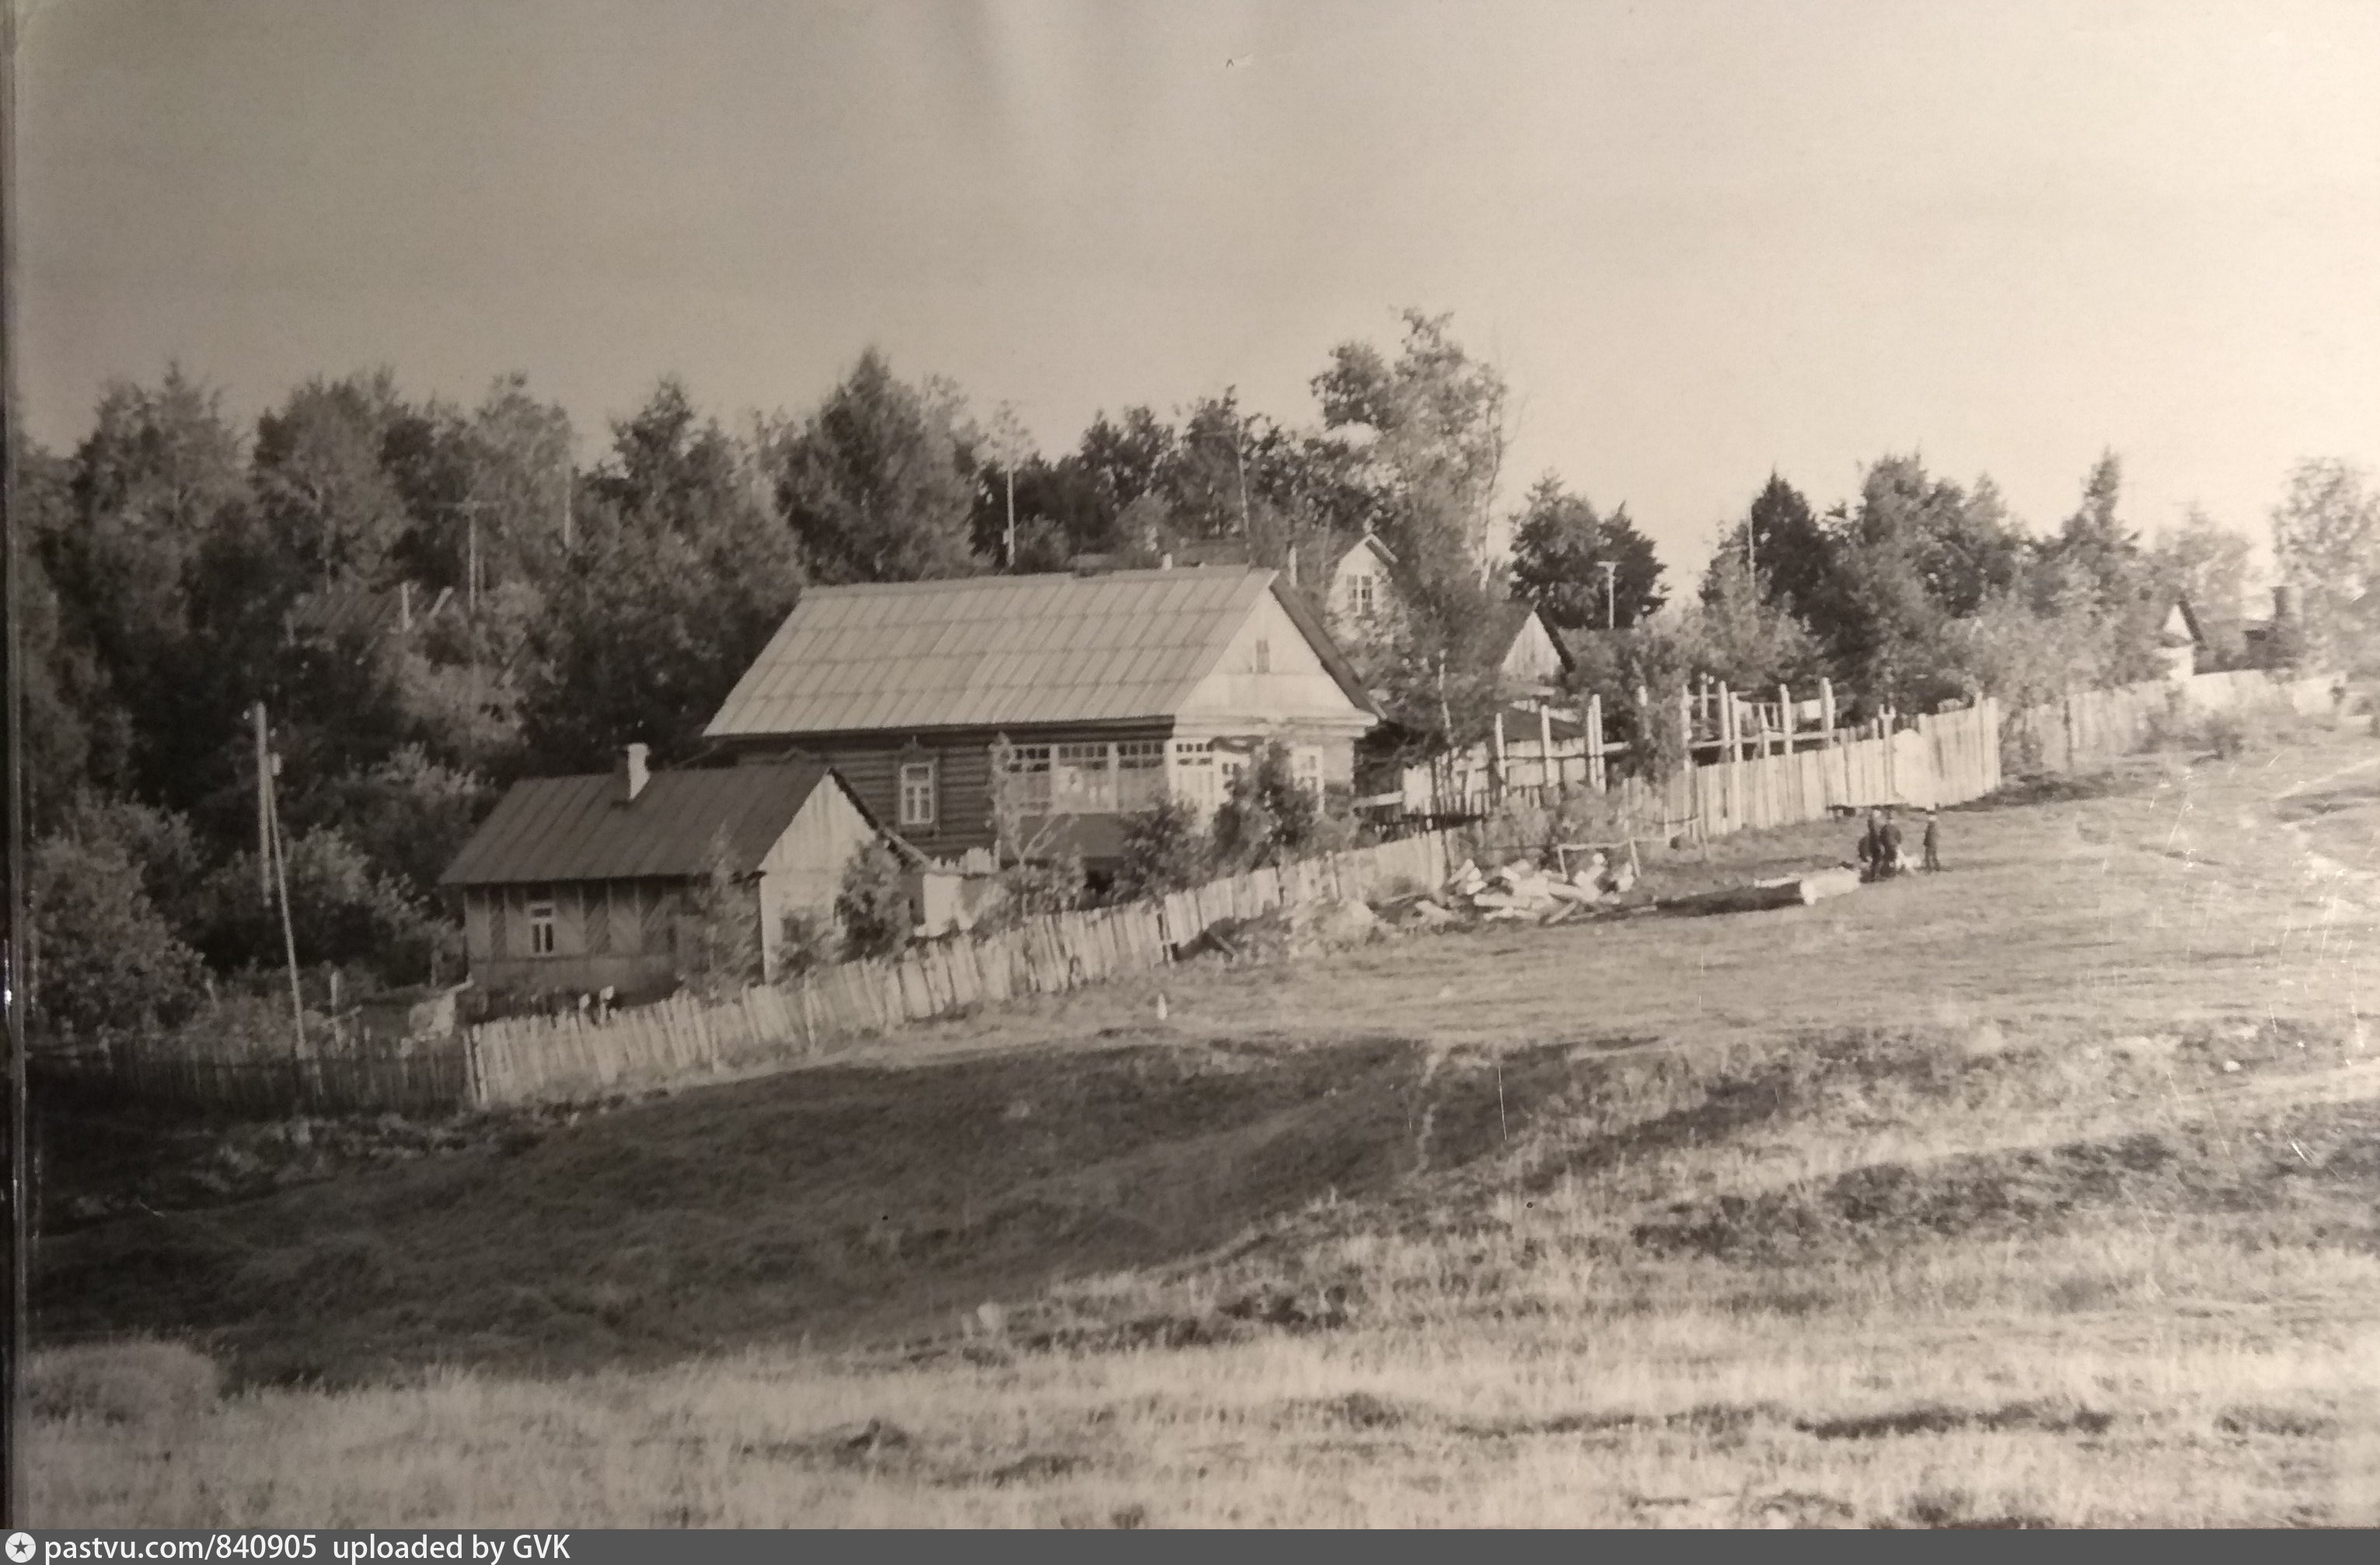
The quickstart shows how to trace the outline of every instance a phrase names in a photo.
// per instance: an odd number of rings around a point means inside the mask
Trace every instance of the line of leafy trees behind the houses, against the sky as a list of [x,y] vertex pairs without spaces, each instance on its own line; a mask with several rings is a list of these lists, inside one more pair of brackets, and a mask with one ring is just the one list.
[[[1388,709],[1388,759],[1485,733],[1504,697],[1490,628],[1516,597],[1573,633],[1580,690],[1623,725],[1635,687],[1692,673],[1830,673],[1904,709],[2135,678],[2173,585],[2218,642],[2237,623],[2247,540],[2197,518],[2144,547],[2113,457],[2049,538],[1987,478],[1961,488],[1914,457],[1823,516],[1771,478],[1671,602],[1626,507],[1549,473],[1499,509],[1504,378],[1447,316],[1402,326],[1385,350],[1333,347],[1307,421],[1226,390],[1171,416],[1102,411],[1059,454],[873,350],[802,416],[721,421],[664,378],[593,461],[524,376],[471,407],[407,397],[388,371],[317,378],[252,426],[181,369],[109,385],[71,452],[19,452],[40,1027],[171,1027],[209,992],[269,985],[250,704],[271,714],[307,973],[455,975],[433,887],[497,790],[600,771],[631,740],[693,759],[812,583],[1228,545],[1299,561],[1319,592],[1373,533],[1409,611],[1349,652]],[[2380,535],[2340,464],[2309,464],[2282,511],[2285,564],[2368,561]]]

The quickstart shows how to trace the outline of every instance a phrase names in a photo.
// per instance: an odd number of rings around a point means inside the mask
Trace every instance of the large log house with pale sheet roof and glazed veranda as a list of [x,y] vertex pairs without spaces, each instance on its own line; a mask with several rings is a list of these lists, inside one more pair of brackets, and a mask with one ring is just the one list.
[[1012,849],[1100,866],[1157,799],[1211,813],[1264,742],[1349,783],[1376,723],[1280,573],[1207,566],[812,587],[704,735],[833,766],[933,859],[992,849],[997,804]]

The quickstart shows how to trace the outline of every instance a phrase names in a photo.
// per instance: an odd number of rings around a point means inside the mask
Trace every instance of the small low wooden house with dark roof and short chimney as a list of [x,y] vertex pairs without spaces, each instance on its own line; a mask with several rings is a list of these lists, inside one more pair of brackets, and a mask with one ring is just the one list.
[[462,897],[471,982],[490,994],[676,987],[688,894],[724,859],[766,975],[785,916],[831,918],[876,821],[809,763],[662,771],[631,744],[612,773],[514,783],[440,885]]

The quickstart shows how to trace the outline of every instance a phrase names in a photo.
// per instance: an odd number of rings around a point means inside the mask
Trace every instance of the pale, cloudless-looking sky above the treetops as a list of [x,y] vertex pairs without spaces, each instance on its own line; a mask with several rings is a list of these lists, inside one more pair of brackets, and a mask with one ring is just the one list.
[[1699,561],[1885,452],[2149,530],[2380,464],[2380,2],[17,0],[24,390],[178,357],[243,416],[507,369],[581,459],[681,373],[800,411],[866,342],[1019,407],[1454,312],[1557,469]]

